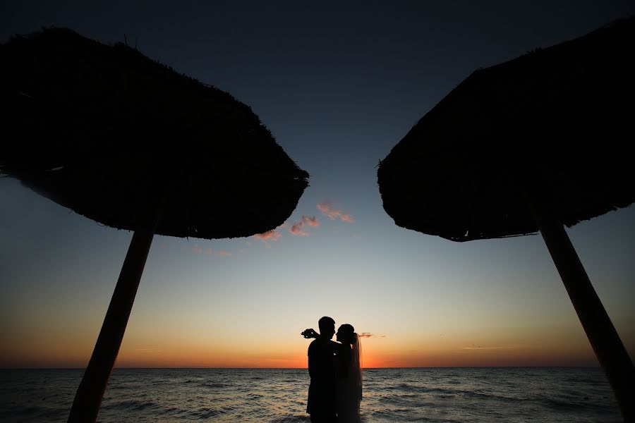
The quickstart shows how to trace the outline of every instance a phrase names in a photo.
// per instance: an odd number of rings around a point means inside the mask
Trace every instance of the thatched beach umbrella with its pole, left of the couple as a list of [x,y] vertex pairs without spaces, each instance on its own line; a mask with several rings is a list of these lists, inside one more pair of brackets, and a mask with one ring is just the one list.
[[135,231],[69,421],[97,418],[152,236],[234,238],[295,209],[308,173],[251,109],[123,44],[71,30],[0,47],[1,171]]

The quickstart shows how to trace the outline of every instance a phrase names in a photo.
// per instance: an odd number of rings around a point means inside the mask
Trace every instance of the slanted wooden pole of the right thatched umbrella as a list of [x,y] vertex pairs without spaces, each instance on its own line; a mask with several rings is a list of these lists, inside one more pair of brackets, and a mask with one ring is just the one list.
[[635,368],[631,358],[595,293],[564,226],[548,205],[535,197],[528,198],[528,202],[588,341],[615,392],[624,422],[635,422]]

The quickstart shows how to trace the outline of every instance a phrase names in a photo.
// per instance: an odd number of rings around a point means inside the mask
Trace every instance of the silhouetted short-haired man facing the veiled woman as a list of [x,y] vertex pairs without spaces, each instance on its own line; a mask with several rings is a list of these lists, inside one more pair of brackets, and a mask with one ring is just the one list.
[[335,422],[335,363],[332,347],[335,321],[322,317],[317,321],[320,335],[308,348],[309,385],[306,412],[313,423]]

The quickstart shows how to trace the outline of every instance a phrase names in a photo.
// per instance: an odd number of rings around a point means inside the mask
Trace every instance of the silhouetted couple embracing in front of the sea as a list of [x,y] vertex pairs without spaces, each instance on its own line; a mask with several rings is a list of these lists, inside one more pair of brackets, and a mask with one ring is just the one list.
[[302,332],[305,338],[316,338],[308,348],[311,383],[306,412],[313,423],[357,423],[362,396],[361,345],[350,324],[337,330],[337,342],[331,341],[335,321],[322,317],[317,322],[320,333],[313,329]]

